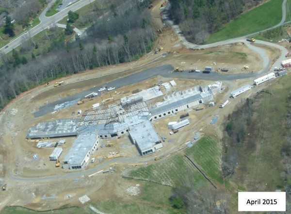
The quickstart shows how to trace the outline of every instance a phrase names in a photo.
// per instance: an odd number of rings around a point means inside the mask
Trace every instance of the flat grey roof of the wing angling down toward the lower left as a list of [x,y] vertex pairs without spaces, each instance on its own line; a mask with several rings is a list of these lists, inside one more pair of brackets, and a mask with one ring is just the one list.
[[67,162],[70,165],[81,165],[84,157],[97,141],[97,137],[97,133],[78,135],[72,148],[67,153],[64,162]]

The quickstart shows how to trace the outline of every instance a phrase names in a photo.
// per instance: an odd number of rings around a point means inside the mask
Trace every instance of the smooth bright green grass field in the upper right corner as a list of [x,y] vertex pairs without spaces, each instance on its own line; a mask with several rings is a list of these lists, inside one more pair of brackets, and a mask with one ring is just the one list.
[[282,2],[283,0],[270,0],[243,13],[218,32],[211,34],[205,40],[205,44],[259,32],[278,24],[282,18]]

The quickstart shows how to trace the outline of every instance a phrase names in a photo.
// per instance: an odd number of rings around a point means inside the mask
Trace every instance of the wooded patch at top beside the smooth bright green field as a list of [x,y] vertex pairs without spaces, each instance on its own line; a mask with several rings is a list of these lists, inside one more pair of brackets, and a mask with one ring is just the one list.
[[179,25],[187,40],[203,44],[214,33],[243,11],[262,0],[169,0],[169,17]]

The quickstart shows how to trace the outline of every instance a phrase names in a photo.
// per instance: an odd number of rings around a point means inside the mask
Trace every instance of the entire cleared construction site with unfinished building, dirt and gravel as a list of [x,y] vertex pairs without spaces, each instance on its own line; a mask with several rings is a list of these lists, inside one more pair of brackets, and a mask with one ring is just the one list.
[[126,189],[135,181],[122,172],[171,157],[203,135],[221,139],[223,119],[238,103],[288,74],[290,62],[275,46],[255,44],[282,65],[265,65],[241,41],[186,47],[163,25],[161,2],[150,11],[162,49],[38,86],[1,112],[0,208],[79,206],[83,196],[131,201]]

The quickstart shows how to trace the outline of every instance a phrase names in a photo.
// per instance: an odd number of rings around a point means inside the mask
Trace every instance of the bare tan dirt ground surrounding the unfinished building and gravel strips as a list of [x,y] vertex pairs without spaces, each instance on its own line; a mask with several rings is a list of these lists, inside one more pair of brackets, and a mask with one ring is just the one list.
[[[147,56],[143,56],[132,63],[102,67],[62,78],[61,80],[65,80],[66,84],[72,83],[65,87],[53,87],[53,83],[58,80],[50,82],[49,87],[41,85],[29,92],[21,94],[2,111],[0,115],[0,124],[3,127],[3,129],[0,130],[0,140],[2,142],[0,150],[0,178],[2,179],[0,183],[7,183],[8,190],[3,191],[3,194],[0,195],[0,209],[5,205],[20,205],[36,210],[58,208],[65,204],[79,206],[80,202],[78,198],[85,194],[92,198],[92,200],[113,199],[121,202],[131,201],[132,198],[126,194],[126,188],[135,185],[136,181],[121,179],[120,174],[122,170],[134,167],[133,165],[119,163],[118,158],[116,158],[114,159],[114,161],[116,160],[116,165],[111,164],[104,166],[104,169],[112,166],[115,170],[113,173],[97,173],[91,177],[79,176],[78,174],[74,179],[68,178],[66,180],[61,180],[58,178],[59,175],[67,175],[72,173],[72,171],[64,170],[61,167],[54,167],[55,162],[49,161],[49,154],[52,152],[53,148],[36,148],[36,141],[28,141],[25,139],[27,131],[29,127],[35,126],[41,121],[55,120],[57,118],[80,117],[81,115],[76,114],[72,116],[71,113],[77,112],[79,109],[84,112],[92,108],[92,104],[100,103],[102,99],[120,99],[131,95],[132,91],[137,88],[140,90],[146,89],[159,81],[169,82],[172,79],[156,76],[143,82],[137,82],[123,88],[118,88],[112,92],[104,93],[102,97],[96,97],[92,101],[88,101],[82,105],[74,105],[55,114],[34,118],[32,113],[39,107],[68,95],[92,88],[97,82],[98,84],[103,84],[109,82],[113,78],[119,78],[161,65],[169,64],[173,67],[181,67],[183,69],[193,69],[197,67],[201,70],[203,70],[205,66],[212,66],[215,70],[218,70],[218,68],[229,68],[230,70],[226,72],[227,74],[252,72],[261,69],[262,60],[259,56],[252,53],[245,45],[240,43],[205,50],[185,49],[180,41],[178,41],[178,36],[170,28],[163,28],[159,5],[161,5],[161,1],[155,1],[151,13],[155,25],[162,28],[163,32],[159,36],[156,44],[157,47],[163,47],[160,53],[154,54],[150,52]],[[278,50],[269,49],[268,47],[262,48],[267,50],[271,58],[275,59],[279,54]],[[167,52],[169,54],[166,57],[162,57],[162,54]],[[244,65],[249,66],[249,69],[242,71],[241,67]],[[109,74],[113,74],[113,76],[108,76]],[[172,88],[172,91],[168,93],[199,84],[206,85],[210,83],[210,81],[183,79],[175,79],[175,81],[177,82],[177,86]],[[201,105],[197,106],[197,108],[203,108],[203,110],[195,111],[191,109],[189,111],[179,112],[177,115],[167,116],[161,120],[154,121],[153,125],[156,131],[167,138],[163,143],[161,151],[158,151],[158,154],[166,157],[176,153],[178,149],[185,147],[186,142],[193,141],[194,132],[199,132],[200,136],[203,134],[210,134],[221,138],[220,129],[221,126],[224,125],[222,124],[224,117],[233,111],[237,103],[264,87],[263,85],[255,87],[238,98],[229,99],[230,91],[250,81],[252,80],[245,79],[223,82],[223,90],[215,95],[215,105],[213,107]],[[219,104],[225,99],[229,99],[230,103],[223,109],[220,109]],[[167,128],[168,122],[179,120],[179,115],[186,112],[190,115],[190,125],[181,128],[178,133],[170,135],[170,130]],[[218,121],[210,125],[210,121],[214,116],[218,116]],[[52,142],[56,140],[59,139],[53,139]],[[61,162],[71,147],[73,140],[74,137],[66,138],[66,144],[62,146],[64,151],[60,157]],[[95,163],[89,164],[86,169],[91,169],[98,164],[106,163],[106,158],[104,158],[104,156],[108,155],[109,152],[119,151],[121,157],[133,158],[140,160],[140,162],[150,159],[149,163],[154,163],[153,158],[157,155],[152,154],[147,158],[141,157],[135,146],[130,143],[127,136],[123,136],[120,139],[113,138],[110,140],[102,140],[101,142],[101,144],[106,143],[113,143],[114,146],[110,148],[98,148],[97,152],[92,156],[96,158]],[[33,154],[38,154],[39,159],[32,159]],[[144,164],[145,163],[139,163],[139,165]],[[32,181],[29,179],[22,179],[18,176],[23,178],[39,177],[40,179]],[[49,181],[41,180],[42,177],[47,176],[50,176],[52,179]],[[76,186],[81,188],[76,188]],[[47,198],[44,197],[44,195],[46,195]]]

